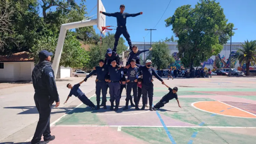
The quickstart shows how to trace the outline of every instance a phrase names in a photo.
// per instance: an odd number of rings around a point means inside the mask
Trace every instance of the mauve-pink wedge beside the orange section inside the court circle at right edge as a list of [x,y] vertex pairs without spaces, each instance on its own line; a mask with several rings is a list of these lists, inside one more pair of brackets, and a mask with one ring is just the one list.
[[243,102],[233,102],[233,101],[222,101],[226,104],[235,106],[239,109],[245,110],[247,112],[256,114],[256,104],[252,104],[252,103],[243,103]]

